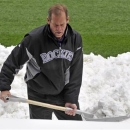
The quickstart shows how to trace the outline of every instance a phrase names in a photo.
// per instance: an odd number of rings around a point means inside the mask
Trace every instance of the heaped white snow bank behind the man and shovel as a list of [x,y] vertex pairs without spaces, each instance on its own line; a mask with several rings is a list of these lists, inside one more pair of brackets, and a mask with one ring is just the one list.
[[[13,48],[0,45],[0,70]],[[11,85],[11,93],[23,98],[27,98],[25,71],[26,65]],[[94,118],[129,115],[130,52],[108,58],[93,53],[84,54],[79,103],[81,110],[94,114]],[[0,119],[29,119],[28,104],[0,100]],[[52,120],[57,120],[54,114]]]

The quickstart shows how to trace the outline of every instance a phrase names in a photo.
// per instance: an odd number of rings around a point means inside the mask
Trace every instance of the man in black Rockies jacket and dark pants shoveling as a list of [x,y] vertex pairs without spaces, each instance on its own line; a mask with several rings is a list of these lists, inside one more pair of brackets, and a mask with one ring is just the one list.
[[82,39],[69,22],[67,8],[56,4],[48,11],[47,24],[25,35],[1,69],[0,98],[11,96],[14,75],[27,63],[25,81],[28,98],[40,102],[70,107],[65,113],[29,105],[31,119],[82,120],[75,115],[82,81]]

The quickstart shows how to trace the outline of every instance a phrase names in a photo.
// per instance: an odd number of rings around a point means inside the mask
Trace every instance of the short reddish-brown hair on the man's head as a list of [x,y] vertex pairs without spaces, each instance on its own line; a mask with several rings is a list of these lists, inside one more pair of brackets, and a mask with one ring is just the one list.
[[49,8],[48,10],[48,18],[51,20],[52,14],[54,15],[60,15],[61,12],[65,12],[66,18],[68,17],[68,9],[65,5],[63,4],[55,4],[52,7]]

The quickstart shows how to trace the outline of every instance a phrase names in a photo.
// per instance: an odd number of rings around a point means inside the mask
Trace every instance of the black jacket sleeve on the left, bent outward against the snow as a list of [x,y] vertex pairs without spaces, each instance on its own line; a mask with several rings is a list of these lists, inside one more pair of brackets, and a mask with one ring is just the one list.
[[27,44],[29,43],[28,36],[18,44],[4,62],[0,72],[0,91],[10,90],[11,83],[14,80],[15,74],[22,68],[28,60],[26,53]]

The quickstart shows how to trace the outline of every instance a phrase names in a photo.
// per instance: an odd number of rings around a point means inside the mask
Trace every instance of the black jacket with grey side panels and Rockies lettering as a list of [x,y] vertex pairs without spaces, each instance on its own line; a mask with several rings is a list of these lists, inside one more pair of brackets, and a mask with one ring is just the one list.
[[1,69],[0,90],[10,90],[14,75],[27,63],[25,81],[39,94],[64,93],[65,102],[77,103],[82,82],[82,39],[67,25],[61,44],[53,36],[49,25],[26,34]]

